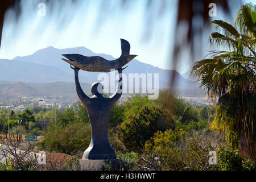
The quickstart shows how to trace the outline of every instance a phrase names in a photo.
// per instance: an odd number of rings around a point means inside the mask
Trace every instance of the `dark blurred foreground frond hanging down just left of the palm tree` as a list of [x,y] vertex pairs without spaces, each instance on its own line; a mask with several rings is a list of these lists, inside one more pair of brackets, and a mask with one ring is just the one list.
[[[191,53],[191,61],[195,59],[196,53],[201,50],[197,50],[196,47],[201,49],[202,36],[204,34],[204,29],[210,23],[209,16],[209,4],[216,3],[217,9],[220,10],[220,7],[224,12],[230,15],[230,7],[228,5],[228,0],[179,0],[178,11],[177,11],[177,21],[176,21],[176,30],[175,30],[175,43],[174,51],[171,59],[173,69],[176,69],[177,63],[179,62],[181,52],[185,47],[188,46]],[[236,2],[232,2],[236,3]],[[201,18],[203,22],[195,20],[195,18]],[[181,35],[184,32],[180,31],[181,23],[187,23],[188,28],[185,31],[185,35]],[[180,40],[180,38],[185,39]],[[175,84],[175,72],[171,75],[170,86]]]

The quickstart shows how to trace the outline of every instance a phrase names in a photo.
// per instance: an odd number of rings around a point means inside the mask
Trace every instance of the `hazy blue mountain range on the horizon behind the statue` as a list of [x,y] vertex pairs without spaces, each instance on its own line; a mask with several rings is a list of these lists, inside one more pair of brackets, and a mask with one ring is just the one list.
[[[61,60],[62,53],[79,53],[85,56],[101,56],[108,60],[114,60],[111,55],[94,53],[85,47],[57,49],[47,47],[40,49],[29,56],[17,56],[13,60],[0,59],[0,100],[14,99],[20,96],[63,96],[76,97],[75,79],[73,70],[69,64]],[[169,69],[160,69],[150,64],[142,63],[137,59],[130,61],[123,71],[129,73],[154,73],[159,74],[159,89],[167,89],[170,84],[170,75],[175,75],[174,89],[180,96],[204,97],[204,93],[198,90],[199,84],[188,80],[179,72]],[[79,78],[85,93],[90,93],[90,85],[97,79],[99,73],[79,72]],[[117,75],[117,72],[115,73]],[[108,73],[110,77],[110,73]],[[152,79],[154,85],[154,78]],[[131,84],[127,79],[127,86]],[[115,81],[117,83],[117,81]],[[141,83],[142,85],[142,83]],[[140,87],[142,87],[140,85]],[[125,88],[123,88],[125,89]]]

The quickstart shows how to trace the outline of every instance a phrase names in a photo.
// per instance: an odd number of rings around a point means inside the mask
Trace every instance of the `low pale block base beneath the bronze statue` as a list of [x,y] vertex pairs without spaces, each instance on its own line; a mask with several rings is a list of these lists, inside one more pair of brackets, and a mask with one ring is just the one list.
[[80,159],[82,171],[121,171],[122,160],[119,159]]

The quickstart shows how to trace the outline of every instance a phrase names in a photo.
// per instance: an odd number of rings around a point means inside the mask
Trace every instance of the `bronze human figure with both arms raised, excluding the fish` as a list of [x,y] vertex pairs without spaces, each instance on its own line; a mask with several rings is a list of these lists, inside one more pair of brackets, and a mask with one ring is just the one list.
[[[100,82],[92,84],[92,97],[86,96],[79,83],[79,68],[71,67],[75,71],[76,92],[82,104],[85,105],[92,128],[92,139],[89,147],[84,151],[82,159],[116,159],[115,151],[110,146],[108,128],[110,111],[115,102],[122,95],[122,68],[117,69],[119,75],[118,88],[110,97],[104,97],[103,86]],[[99,92],[100,91],[100,92]]]

